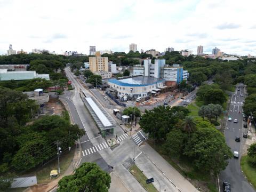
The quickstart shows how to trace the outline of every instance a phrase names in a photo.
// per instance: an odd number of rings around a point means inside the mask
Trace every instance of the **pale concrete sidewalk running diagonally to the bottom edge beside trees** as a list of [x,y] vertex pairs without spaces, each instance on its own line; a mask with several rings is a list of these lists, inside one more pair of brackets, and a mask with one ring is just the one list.
[[177,170],[166,162],[161,155],[151,148],[148,143],[145,142],[144,145],[140,146],[140,149],[180,191],[198,191],[187,179],[185,179]]

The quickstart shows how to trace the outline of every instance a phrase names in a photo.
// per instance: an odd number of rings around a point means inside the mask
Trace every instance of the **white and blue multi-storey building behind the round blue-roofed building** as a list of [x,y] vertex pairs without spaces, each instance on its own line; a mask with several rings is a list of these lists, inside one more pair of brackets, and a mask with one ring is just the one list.
[[165,59],[155,59],[155,64],[151,59],[145,59],[143,66],[135,65],[131,76],[146,76],[154,78],[163,78],[165,81],[171,81],[179,84],[183,79],[188,78],[188,71],[183,70],[179,64],[173,66],[165,65]]

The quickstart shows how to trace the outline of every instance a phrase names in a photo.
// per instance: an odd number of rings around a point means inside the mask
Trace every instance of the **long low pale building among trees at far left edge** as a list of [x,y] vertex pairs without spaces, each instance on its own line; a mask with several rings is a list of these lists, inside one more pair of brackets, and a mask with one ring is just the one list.
[[27,80],[33,78],[50,80],[49,74],[37,74],[36,71],[7,71],[7,69],[0,69],[0,81]]

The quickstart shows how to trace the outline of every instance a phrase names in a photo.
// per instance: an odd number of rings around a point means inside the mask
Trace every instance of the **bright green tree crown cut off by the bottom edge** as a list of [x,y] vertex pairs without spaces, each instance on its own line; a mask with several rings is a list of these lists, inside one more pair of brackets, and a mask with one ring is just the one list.
[[83,163],[75,174],[63,177],[59,181],[58,192],[107,192],[110,188],[110,176],[96,163]]

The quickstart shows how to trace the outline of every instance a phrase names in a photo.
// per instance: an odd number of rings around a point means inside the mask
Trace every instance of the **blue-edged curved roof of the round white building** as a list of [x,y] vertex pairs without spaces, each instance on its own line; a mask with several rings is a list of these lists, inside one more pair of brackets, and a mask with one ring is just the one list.
[[135,76],[135,77],[122,78],[122,79],[115,79],[115,78],[108,79],[108,82],[115,83],[117,85],[122,85],[122,86],[146,86],[146,85],[152,85],[152,84],[156,84],[163,81],[165,80],[154,78],[154,77],[146,77],[146,76]]

